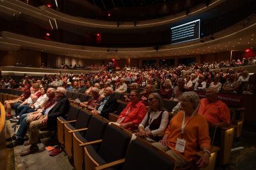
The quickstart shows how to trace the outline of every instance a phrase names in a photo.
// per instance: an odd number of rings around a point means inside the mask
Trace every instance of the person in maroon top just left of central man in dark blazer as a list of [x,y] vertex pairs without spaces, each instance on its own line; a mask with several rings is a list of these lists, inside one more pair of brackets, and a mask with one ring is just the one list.
[[97,87],[92,87],[92,98],[89,101],[84,103],[80,103],[79,106],[87,108],[89,110],[94,110],[97,106],[99,106],[102,101],[102,97],[99,95],[99,89]]

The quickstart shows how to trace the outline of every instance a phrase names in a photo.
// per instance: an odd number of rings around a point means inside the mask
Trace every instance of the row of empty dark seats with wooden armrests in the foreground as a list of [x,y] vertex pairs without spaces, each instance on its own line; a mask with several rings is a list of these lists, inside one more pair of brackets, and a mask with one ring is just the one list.
[[142,139],[130,143],[132,134],[122,127],[77,106],[68,112],[67,120],[58,118],[58,140],[76,169],[173,169],[171,157]]

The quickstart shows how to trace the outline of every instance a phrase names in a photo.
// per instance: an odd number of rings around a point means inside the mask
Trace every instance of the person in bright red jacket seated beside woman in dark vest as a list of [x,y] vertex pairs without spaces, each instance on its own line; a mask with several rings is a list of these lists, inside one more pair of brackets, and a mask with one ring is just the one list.
[[118,123],[120,127],[124,127],[124,129],[128,131],[137,129],[147,113],[145,105],[141,103],[139,99],[140,93],[138,90],[132,90],[130,93],[131,102],[127,104],[116,120],[116,123]]

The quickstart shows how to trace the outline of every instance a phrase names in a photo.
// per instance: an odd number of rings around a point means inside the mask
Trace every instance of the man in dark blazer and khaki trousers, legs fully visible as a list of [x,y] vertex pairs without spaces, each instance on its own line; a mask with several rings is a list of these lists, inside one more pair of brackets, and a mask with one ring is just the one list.
[[45,110],[28,117],[27,123],[29,124],[29,148],[23,150],[20,156],[29,155],[38,151],[38,136],[39,130],[48,128],[49,130],[55,130],[57,127],[57,117],[65,114],[65,111],[69,109],[69,101],[66,97],[67,90],[63,87],[58,87],[55,92],[55,97],[45,106]]

